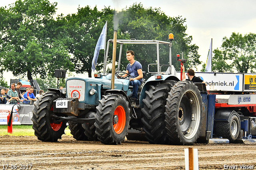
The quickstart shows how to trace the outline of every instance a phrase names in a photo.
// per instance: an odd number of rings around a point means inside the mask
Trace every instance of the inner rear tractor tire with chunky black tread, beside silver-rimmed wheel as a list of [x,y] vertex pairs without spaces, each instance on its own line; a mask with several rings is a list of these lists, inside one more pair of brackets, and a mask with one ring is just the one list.
[[149,86],[146,98],[143,99],[144,108],[142,113],[143,130],[151,144],[168,144],[165,128],[165,105],[168,92],[176,81],[164,81]]

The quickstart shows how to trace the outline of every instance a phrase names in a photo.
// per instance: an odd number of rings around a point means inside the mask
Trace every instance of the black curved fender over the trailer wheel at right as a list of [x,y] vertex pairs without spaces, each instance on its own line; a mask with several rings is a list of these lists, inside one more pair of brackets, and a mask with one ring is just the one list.
[[238,113],[236,113],[236,111],[232,110],[232,109],[220,109],[217,111],[217,113],[215,113],[214,116],[214,121],[230,121],[230,117],[232,115],[236,115],[239,119],[240,122],[240,116],[238,115]]

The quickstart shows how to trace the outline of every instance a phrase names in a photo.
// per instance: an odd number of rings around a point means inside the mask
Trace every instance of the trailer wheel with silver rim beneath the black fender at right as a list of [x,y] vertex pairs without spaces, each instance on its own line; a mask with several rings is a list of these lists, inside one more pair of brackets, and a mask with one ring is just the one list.
[[216,122],[216,136],[227,138],[230,143],[238,138],[239,132],[240,121],[235,114],[230,117],[228,122]]

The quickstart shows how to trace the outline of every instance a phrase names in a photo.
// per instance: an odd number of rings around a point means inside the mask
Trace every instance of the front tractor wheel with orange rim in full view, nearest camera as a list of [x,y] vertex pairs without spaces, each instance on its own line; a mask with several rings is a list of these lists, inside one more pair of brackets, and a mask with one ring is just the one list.
[[104,95],[96,107],[96,134],[103,144],[121,144],[128,134],[130,108],[121,94]]

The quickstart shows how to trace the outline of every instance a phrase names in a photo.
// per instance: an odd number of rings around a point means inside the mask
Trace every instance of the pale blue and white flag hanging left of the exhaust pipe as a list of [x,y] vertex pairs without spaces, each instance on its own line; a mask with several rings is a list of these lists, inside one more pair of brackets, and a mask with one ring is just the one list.
[[99,56],[99,52],[100,49],[105,49],[105,44],[106,44],[106,32],[107,32],[107,23],[104,25],[102,32],[100,33],[100,37],[99,40],[96,44],[95,47],[95,51],[94,51],[94,55],[93,55],[93,59],[92,59],[92,71],[95,70],[96,64],[97,64],[97,60],[98,60],[98,56]]

